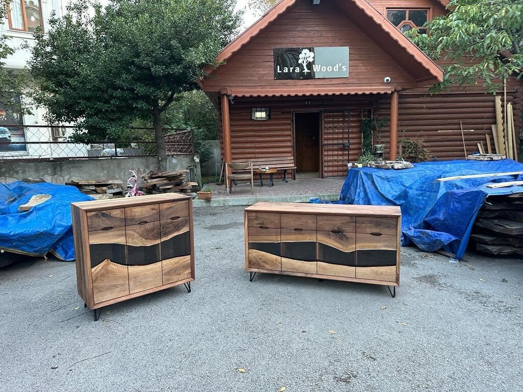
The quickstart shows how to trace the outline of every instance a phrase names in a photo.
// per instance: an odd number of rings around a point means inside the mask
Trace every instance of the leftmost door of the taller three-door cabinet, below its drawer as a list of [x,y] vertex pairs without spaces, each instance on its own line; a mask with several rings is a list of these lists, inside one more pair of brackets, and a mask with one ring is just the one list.
[[124,227],[89,232],[89,257],[95,304],[129,294]]

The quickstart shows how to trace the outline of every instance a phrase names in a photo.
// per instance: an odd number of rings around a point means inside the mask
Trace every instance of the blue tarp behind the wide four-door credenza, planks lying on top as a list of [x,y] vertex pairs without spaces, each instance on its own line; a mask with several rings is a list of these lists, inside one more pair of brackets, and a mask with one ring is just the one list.
[[[452,160],[414,164],[411,169],[350,169],[337,204],[399,205],[403,246],[414,243],[463,258],[477,212],[490,195],[523,192],[523,187],[487,188],[487,183],[523,180],[523,175],[436,181],[438,178],[523,171],[511,159]],[[312,199],[313,203],[321,203]]]

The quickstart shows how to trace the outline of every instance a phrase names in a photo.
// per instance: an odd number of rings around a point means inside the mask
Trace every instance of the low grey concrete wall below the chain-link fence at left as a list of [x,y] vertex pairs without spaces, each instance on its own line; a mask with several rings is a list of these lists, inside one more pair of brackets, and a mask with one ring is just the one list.
[[[200,165],[192,156],[167,157],[168,171],[187,169],[189,165],[197,165],[198,175],[201,176]],[[142,175],[150,170],[158,170],[158,161],[156,157],[70,159],[59,162],[0,161],[0,181],[8,183],[31,177],[63,184],[71,180],[107,179],[121,180],[125,185],[129,178],[129,169],[135,169],[138,175]]]

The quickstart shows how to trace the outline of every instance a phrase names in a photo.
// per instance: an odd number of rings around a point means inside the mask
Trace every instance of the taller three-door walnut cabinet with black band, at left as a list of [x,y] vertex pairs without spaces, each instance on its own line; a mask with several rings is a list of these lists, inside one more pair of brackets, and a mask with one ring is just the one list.
[[94,310],[195,278],[192,200],[158,194],[71,204],[76,281]]

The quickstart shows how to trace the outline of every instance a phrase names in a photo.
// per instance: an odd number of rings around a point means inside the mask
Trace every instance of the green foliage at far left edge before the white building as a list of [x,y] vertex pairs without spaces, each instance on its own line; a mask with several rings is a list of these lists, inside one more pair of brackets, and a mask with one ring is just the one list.
[[[7,1],[0,1],[0,20],[7,18]],[[10,70],[5,67],[5,59],[20,48],[9,45],[11,37],[0,32],[0,108],[10,113],[30,113],[19,97],[23,95],[27,78],[24,71]]]

